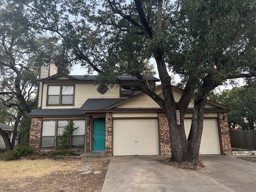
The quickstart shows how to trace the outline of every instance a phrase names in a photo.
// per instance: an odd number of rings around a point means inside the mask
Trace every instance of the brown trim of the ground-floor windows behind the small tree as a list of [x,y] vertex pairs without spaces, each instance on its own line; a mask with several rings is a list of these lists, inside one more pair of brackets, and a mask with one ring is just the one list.
[[[87,127],[86,127],[86,119],[79,119],[79,118],[75,118],[75,119],[55,119],[55,120],[51,120],[51,119],[45,119],[42,120],[41,122],[41,135],[40,135],[40,148],[41,149],[55,149],[57,147],[57,136],[58,136],[58,121],[59,120],[84,120],[85,121],[85,134],[83,136],[85,136],[85,145],[84,146],[72,146],[72,135],[70,136],[70,140],[69,140],[69,149],[83,149],[86,146],[86,132],[87,132]],[[54,146],[53,147],[42,147],[42,132],[43,132],[43,121],[55,121],[55,130],[54,130]],[[77,135],[79,136],[79,135]],[[47,137],[47,136],[43,136],[43,137]],[[49,136],[52,137],[52,136]]]

